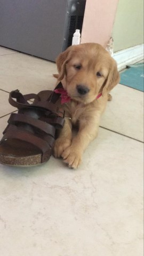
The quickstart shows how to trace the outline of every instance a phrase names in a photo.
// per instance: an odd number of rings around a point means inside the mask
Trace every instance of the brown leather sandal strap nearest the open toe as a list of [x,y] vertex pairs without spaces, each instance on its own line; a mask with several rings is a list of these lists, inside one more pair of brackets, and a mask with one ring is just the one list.
[[41,150],[42,152],[41,163],[47,162],[47,160],[52,154],[52,149],[51,149],[53,144],[52,140],[54,141],[54,139],[51,136],[49,136],[49,140],[45,136],[42,139],[28,131],[23,131],[18,129],[17,126],[14,126],[14,125],[8,125],[8,126],[9,127],[7,127],[6,132],[4,133],[4,136],[0,144],[7,139],[19,139],[22,141],[29,142]]

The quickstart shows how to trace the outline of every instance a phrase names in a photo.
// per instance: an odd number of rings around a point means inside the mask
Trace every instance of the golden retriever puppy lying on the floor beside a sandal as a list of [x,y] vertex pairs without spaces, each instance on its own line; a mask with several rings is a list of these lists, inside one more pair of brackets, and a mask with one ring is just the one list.
[[[117,65],[99,44],[70,46],[57,60],[58,81],[68,94],[63,104],[66,122],[55,141],[54,156],[62,157],[71,168],[77,168],[84,150],[98,134],[100,117],[106,108],[109,92],[119,82]],[[78,124],[73,138],[72,127]]]

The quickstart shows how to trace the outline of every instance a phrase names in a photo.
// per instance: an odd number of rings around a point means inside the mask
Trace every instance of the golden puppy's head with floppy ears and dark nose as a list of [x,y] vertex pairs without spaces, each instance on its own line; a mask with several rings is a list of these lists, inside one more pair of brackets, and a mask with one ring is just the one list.
[[108,93],[119,82],[117,65],[99,44],[70,46],[57,60],[58,80],[63,82],[71,99],[84,104],[99,93]]

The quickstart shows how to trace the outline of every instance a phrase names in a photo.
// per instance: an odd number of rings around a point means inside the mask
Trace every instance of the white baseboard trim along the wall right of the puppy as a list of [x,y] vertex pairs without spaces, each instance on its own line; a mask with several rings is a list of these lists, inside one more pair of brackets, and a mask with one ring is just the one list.
[[117,62],[118,71],[126,68],[126,66],[134,64],[143,59],[144,44],[135,45],[133,47],[115,52],[113,58]]

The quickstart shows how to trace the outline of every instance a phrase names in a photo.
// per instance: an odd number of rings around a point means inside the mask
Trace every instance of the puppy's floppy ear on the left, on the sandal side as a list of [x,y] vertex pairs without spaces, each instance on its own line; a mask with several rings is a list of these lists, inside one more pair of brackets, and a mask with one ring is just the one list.
[[[70,48],[70,47],[69,47]],[[70,60],[70,49],[67,49],[65,52],[62,52],[58,55],[56,59],[57,68],[59,71],[58,80],[61,81],[65,76],[66,72],[66,63]]]

